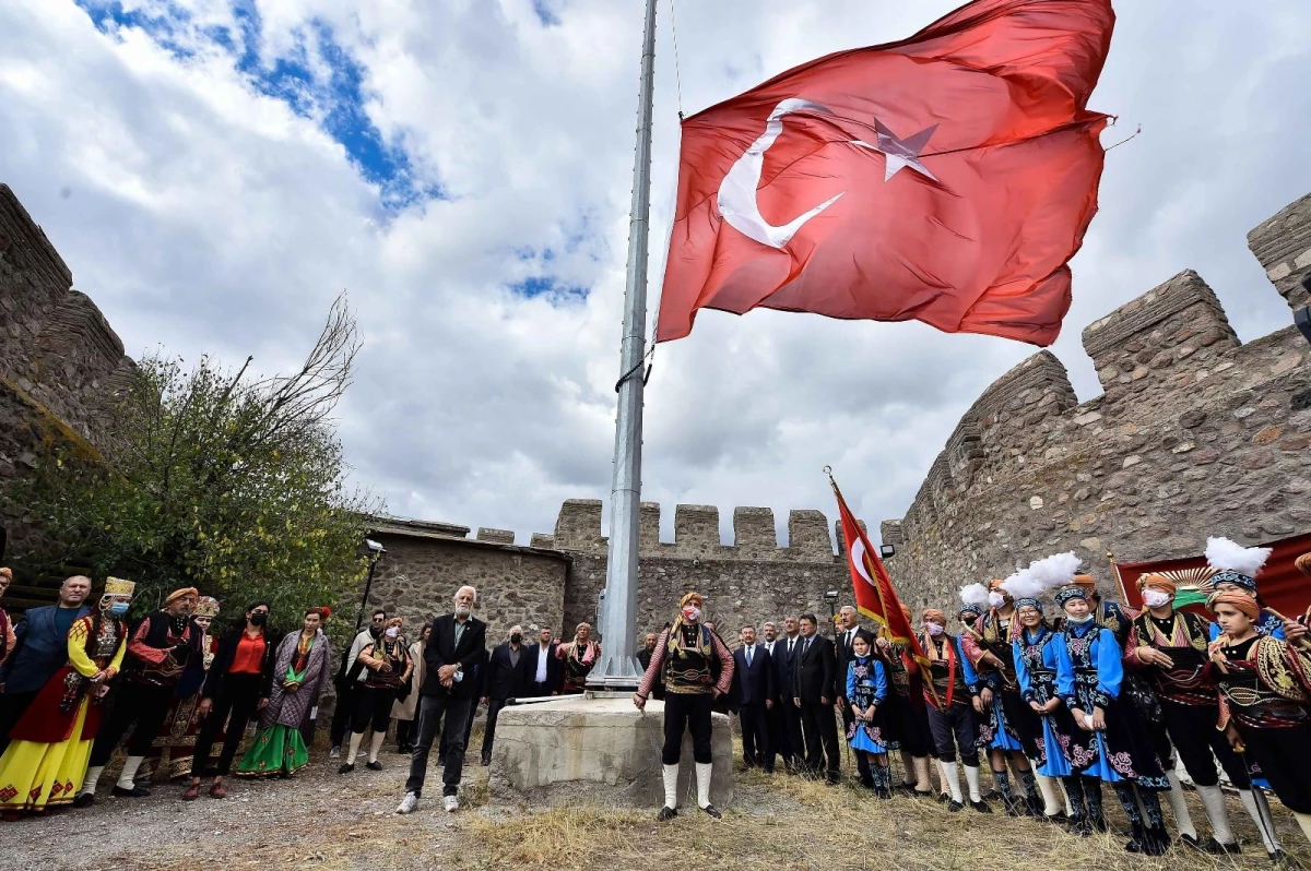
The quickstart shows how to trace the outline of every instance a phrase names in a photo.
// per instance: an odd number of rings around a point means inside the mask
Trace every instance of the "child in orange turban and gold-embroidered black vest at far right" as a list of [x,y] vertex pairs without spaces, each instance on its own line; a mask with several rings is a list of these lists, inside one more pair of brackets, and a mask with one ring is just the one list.
[[1207,668],[1219,689],[1219,727],[1311,840],[1311,647],[1262,634],[1252,596],[1218,591],[1207,604],[1222,630]]

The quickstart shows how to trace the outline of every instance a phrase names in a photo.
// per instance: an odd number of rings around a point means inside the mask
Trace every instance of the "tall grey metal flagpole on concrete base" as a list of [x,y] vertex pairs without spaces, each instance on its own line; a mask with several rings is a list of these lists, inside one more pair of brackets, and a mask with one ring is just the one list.
[[638,681],[637,524],[642,470],[642,358],[646,350],[646,255],[652,187],[652,105],[656,86],[656,0],[646,0],[642,72],[637,92],[637,149],[633,157],[633,202],[628,219],[628,278],[624,283],[624,337],[616,385],[615,470],[610,490],[610,555],[602,599],[602,661],[590,686],[629,689]]

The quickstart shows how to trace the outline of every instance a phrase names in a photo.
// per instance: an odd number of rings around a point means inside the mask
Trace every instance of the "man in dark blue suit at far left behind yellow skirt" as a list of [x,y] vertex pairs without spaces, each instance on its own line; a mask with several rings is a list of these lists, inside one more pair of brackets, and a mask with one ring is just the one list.
[[33,608],[14,626],[13,651],[0,664],[0,753],[9,745],[9,730],[68,661],[68,629],[90,613],[83,605],[89,595],[90,578],[73,575],[59,587],[58,605]]

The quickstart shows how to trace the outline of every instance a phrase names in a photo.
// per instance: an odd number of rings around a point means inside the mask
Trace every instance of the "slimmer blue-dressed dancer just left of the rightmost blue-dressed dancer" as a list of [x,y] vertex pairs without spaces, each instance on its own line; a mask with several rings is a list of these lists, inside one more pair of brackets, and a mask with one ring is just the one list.
[[[1078,727],[1057,693],[1057,669],[1065,637],[1051,631],[1042,613],[1042,604],[1032,596],[1016,599],[1015,613],[1020,620],[1020,633],[1012,642],[1015,676],[1020,681],[1020,697],[1038,715],[1041,724],[1041,731],[1034,739],[1038,754],[1033,761],[1038,775],[1067,781],[1074,775],[1074,769],[1070,768],[1066,752],[1070,737]],[[1083,811],[1082,803],[1078,809],[1071,803],[1070,809],[1075,811],[1070,819],[1071,826],[1079,826],[1083,823],[1079,817]],[[1044,819],[1055,823],[1066,819],[1066,815],[1054,802],[1047,802]]]

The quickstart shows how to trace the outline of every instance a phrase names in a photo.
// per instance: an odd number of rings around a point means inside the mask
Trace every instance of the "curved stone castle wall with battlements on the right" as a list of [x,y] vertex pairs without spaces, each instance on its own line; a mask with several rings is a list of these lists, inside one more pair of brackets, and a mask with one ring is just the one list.
[[[1248,236],[1290,306],[1307,303],[1311,196]],[[907,604],[1075,550],[1108,589],[1120,562],[1311,530],[1311,346],[1295,327],[1240,344],[1184,271],[1083,331],[1103,396],[1078,402],[1041,351],[998,379],[947,440],[914,503],[882,524]]]

